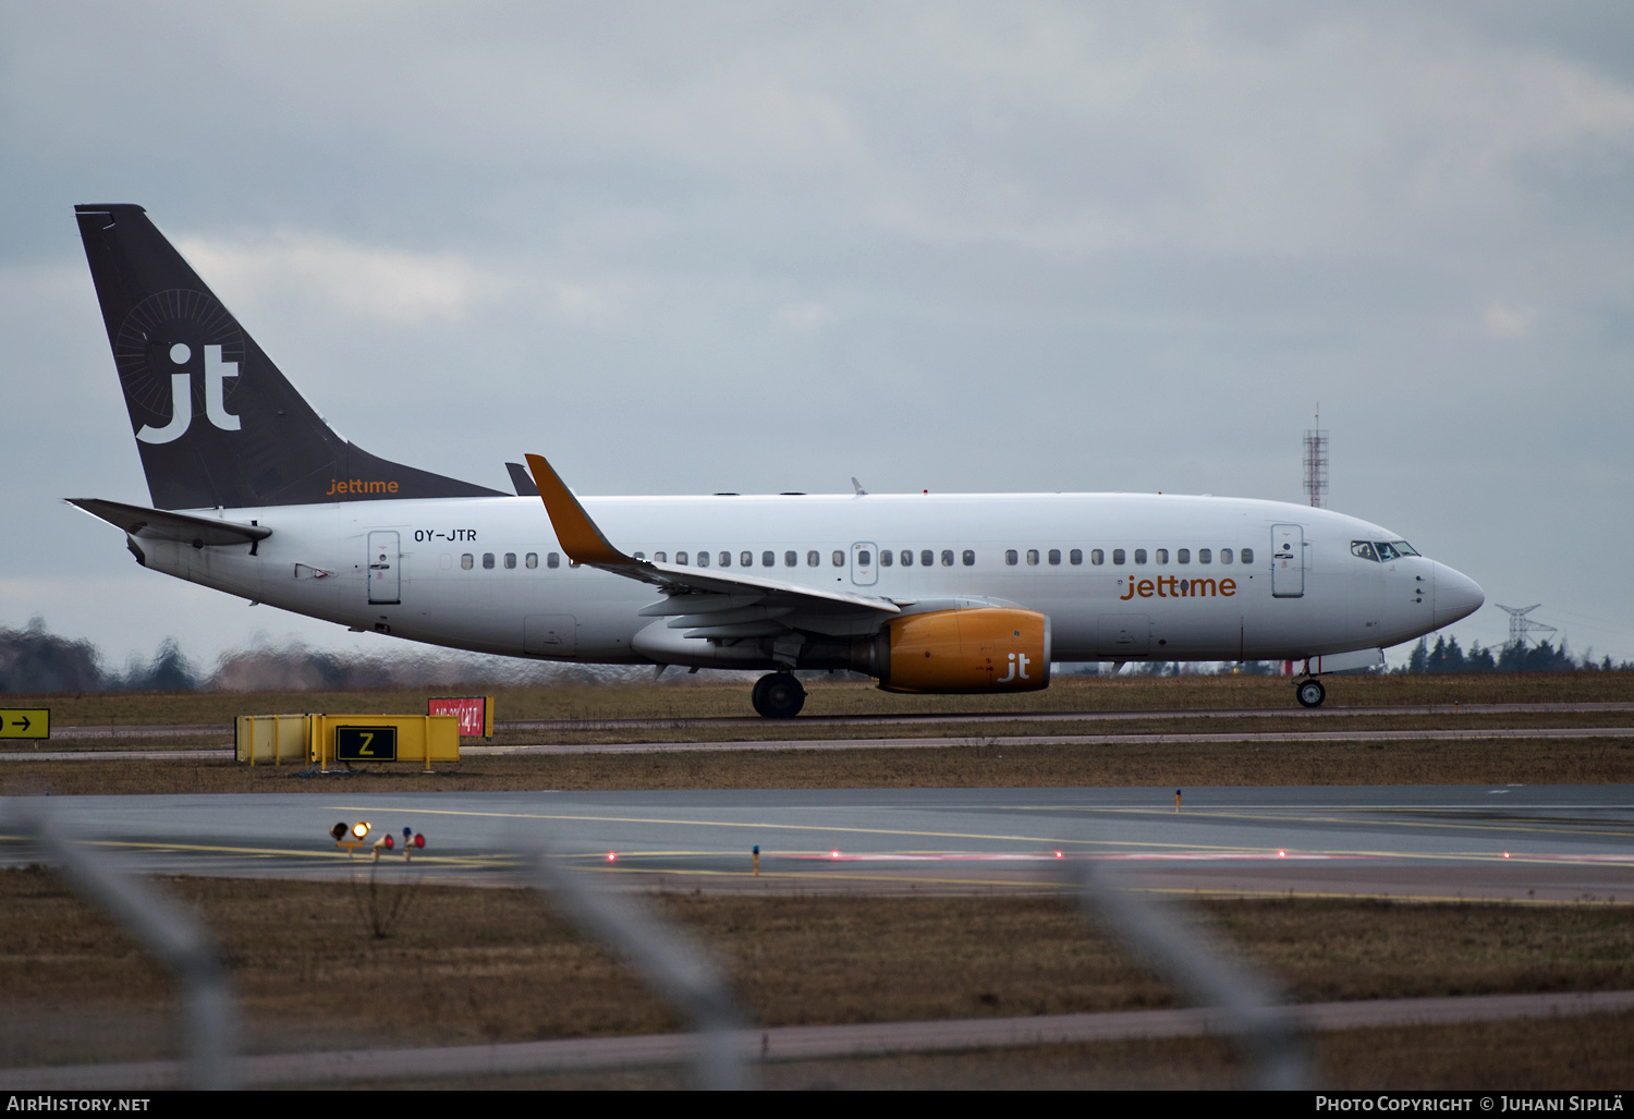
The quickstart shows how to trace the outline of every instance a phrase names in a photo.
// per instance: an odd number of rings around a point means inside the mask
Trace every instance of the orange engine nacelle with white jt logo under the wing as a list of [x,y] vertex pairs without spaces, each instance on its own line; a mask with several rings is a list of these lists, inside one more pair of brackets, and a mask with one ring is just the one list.
[[886,691],[1049,688],[1049,617],[1031,609],[940,609],[894,617],[874,639]]

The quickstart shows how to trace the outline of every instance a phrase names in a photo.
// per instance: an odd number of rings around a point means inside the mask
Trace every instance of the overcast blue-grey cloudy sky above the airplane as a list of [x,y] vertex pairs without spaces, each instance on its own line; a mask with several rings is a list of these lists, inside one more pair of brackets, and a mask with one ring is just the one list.
[[[0,0],[0,626],[381,652],[141,570],[72,207],[369,451],[580,493],[1328,505],[1634,658],[1627,3]],[[1399,657],[1405,650],[1399,650]]]

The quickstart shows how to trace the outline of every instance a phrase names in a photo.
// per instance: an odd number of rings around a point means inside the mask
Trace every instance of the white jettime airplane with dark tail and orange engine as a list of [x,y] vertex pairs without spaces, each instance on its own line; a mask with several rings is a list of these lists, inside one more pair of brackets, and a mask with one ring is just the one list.
[[[144,567],[410,640],[538,660],[796,668],[1005,693],[1051,662],[1296,662],[1322,673],[1484,601],[1400,534],[1302,505],[1149,493],[515,495],[342,439],[141,206],[77,206],[152,508],[74,505]],[[544,508],[541,508],[541,498]]]

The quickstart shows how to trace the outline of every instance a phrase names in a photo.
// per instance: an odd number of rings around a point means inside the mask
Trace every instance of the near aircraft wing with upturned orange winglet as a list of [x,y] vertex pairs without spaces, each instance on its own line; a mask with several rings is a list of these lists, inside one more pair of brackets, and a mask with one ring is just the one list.
[[596,523],[585,513],[585,506],[578,503],[578,498],[542,456],[529,454],[528,466],[533,469],[539,497],[544,500],[544,511],[551,516],[556,539],[562,542],[567,559],[575,564],[652,583],[665,595],[727,595],[760,603],[773,600],[779,606],[825,613],[902,613],[889,598],[830,591],[760,575],[727,575],[725,572],[698,570],[675,564],[654,564],[626,555],[608,542]]

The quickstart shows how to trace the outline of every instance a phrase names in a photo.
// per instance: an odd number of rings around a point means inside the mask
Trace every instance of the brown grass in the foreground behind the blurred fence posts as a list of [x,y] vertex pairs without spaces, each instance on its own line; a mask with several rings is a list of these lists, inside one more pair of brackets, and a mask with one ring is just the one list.
[[[474,1044],[675,1029],[634,977],[525,890],[422,887],[376,939],[351,884],[165,879],[222,946],[248,1049]],[[660,895],[722,961],[755,1024],[1052,1014],[1176,1005],[1064,902]],[[1627,907],[1208,902],[1201,918],[1296,1001],[1634,987]],[[0,871],[0,1065],[173,1052],[168,980],[64,884]],[[1335,1032],[1328,1086],[1626,1086],[1634,1016]],[[1240,1077],[1216,1042],[809,1062],[773,1083],[1209,1086]],[[1175,1081],[1175,1077],[1180,1077]],[[490,1086],[623,1086],[513,1078]],[[951,1080],[944,1080],[951,1077]]]

